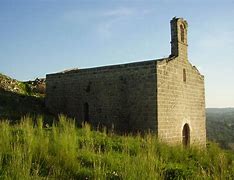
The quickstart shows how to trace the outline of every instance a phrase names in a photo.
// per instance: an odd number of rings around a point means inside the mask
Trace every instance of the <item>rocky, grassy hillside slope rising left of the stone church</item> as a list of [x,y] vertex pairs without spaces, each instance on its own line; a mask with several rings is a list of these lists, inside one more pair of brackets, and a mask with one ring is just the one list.
[[0,119],[19,120],[27,114],[44,114],[45,81],[21,82],[0,74]]

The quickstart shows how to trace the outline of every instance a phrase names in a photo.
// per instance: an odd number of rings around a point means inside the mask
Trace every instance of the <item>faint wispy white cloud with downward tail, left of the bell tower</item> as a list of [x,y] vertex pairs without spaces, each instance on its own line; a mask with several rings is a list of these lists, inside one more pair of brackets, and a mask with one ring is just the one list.
[[149,9],[139,9],[134,7],[118,7],[112,9],[74,10],[65,12],[63,19],[72,23],[82,25],[92,25],[96,32],[105,38],[112,35],[114,27],[130,18],[141,18],[152,11]]

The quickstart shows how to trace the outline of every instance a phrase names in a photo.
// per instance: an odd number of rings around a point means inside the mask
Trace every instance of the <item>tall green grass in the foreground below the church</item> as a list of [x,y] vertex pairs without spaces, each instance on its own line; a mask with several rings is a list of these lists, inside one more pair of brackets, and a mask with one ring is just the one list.
[[118,136],[77,128],[64,116],[0,123],[0,179],[234,179],[234,154],[170,147],[152,134]]

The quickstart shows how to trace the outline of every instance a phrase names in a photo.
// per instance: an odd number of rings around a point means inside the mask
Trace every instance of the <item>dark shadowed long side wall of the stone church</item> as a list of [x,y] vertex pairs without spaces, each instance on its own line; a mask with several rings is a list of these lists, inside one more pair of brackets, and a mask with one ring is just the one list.
[[81,123],[84,104],[89,122],[117,131],[156,132],[155,61],[81,69],[46,77],[46,105]]

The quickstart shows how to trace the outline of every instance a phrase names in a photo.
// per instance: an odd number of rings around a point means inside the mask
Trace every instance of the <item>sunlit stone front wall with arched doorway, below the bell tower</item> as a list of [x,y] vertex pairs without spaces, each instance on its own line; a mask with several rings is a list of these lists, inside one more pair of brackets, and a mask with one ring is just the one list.
[[157,64],[158,136],[170,144],[182,143],[187,123],[190,144],[205,146],[204,78],[182,57]]

